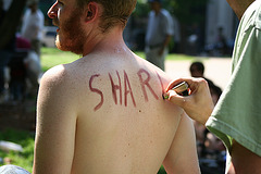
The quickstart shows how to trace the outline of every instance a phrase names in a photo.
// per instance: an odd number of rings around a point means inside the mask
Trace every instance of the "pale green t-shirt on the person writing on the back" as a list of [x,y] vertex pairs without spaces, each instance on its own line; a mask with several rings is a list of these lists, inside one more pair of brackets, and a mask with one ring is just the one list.
[[233,139],[261,157],[261,0],[245,12],[233,52],[233,73],[207,127],[228,151]]

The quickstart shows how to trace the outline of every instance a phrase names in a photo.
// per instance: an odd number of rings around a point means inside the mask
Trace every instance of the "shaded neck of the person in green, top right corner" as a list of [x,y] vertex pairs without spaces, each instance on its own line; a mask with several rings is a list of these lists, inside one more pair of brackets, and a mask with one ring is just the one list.
[[236,13],[238,20],[241,20],[243,14],[254,0],[226,0],[226,1]]

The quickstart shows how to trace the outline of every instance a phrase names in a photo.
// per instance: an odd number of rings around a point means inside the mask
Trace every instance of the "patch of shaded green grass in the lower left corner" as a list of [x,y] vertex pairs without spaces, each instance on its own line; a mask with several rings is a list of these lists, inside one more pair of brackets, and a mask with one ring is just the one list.
[[[12,164],[24,167],[32,172],[34,160],[35,135],[25,130],[5,129],[0,132],[0,140],[7,140],[18,144],[23,147],[23,152],[2,151],[0,158],[9,159]],[[7,164],[7,163],[3,163]],[[2,164],[0,164],[2,165]]]

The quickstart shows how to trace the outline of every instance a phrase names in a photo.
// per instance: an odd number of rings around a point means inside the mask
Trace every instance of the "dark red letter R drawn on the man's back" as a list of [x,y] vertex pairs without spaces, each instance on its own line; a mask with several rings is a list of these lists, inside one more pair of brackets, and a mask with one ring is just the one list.
[[[146,74],[146,75],[147,75],[147,78],[146,78],[146,79],[144,79],[142,74]],[[149,101],[145,86],[147,86],[147,88],[149,88],[150,92],[154,96],[154,98],[156,98],[157,100],[159,100],[159,97],[157,96],[157,94],[154,92],[154,90],[153,90],[153,89],[151,88],[151,86],[149,85],[150,74],[149,74],[146,70],[140,69],[139,72],[138,72],[138,76],[139,76],[139,82],[140,82],[140,85],[141,85],[141,89],[142,89],[144,95],[145,95],[145,101]]]

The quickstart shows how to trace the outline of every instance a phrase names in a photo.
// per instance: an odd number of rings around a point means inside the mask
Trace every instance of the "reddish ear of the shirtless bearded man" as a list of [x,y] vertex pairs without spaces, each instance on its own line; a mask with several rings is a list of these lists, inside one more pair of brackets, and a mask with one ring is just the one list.
[[98,3],[89,2],[85,8],[85,22],[91,22],[97,18],[99,12]]

